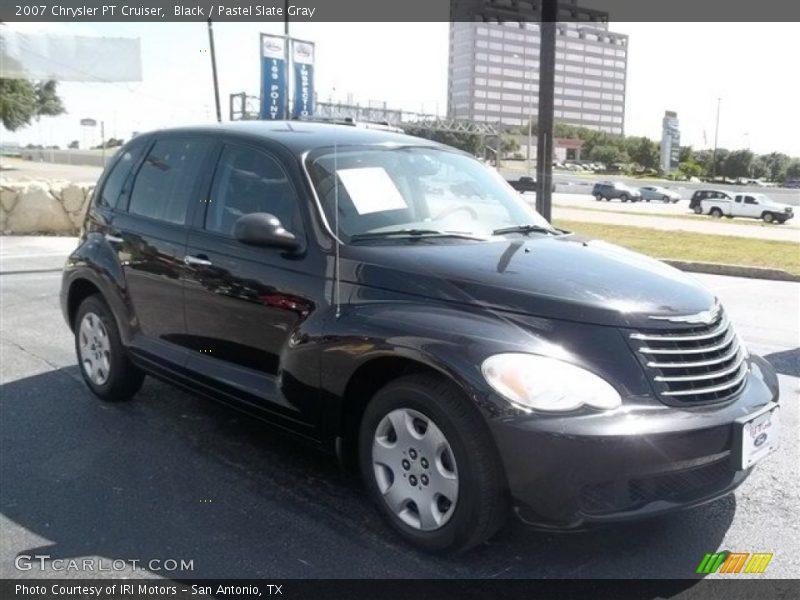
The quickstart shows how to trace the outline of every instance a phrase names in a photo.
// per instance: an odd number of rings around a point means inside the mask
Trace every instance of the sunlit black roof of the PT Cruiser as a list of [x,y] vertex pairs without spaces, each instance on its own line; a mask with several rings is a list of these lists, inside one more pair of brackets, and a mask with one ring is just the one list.
[[444,144],[392,131],[310,121],[232,121],[150,132],[151,135],[162,133],[233,134],[241,137],[261,138],[277,142],[298,155],[334,144],[340,146],[410,145],[452,149]]

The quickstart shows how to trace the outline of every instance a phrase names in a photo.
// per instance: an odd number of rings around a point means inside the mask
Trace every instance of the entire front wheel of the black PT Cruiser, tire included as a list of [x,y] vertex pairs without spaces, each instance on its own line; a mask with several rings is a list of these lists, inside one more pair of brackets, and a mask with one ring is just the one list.
[[[361,421],[359,464],[369,494],[391,527],[423,550],[463,552],[506,519],[504,470],[469,402],[444,379],[408,375],[380,389]],[[441,450],[428,456],[434,448]]]

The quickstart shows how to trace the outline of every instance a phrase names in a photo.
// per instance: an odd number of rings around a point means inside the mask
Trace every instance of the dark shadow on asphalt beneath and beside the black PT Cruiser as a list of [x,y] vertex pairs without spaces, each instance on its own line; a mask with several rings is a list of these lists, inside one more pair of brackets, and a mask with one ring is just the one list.
[[[511,519],[480,548],[428,556],[389,532],[332,458],[152,378],[112,404],[77,367],[50,371],[0,387],[0,411],[2,577],[20,575],[15,557],[46,554],[137,560],[178,579],[693,578],[736,510],[728,496],[572,534]],[[153,559],[193,568],[159,571]],[[47,565],[24,575],[64,576]]]

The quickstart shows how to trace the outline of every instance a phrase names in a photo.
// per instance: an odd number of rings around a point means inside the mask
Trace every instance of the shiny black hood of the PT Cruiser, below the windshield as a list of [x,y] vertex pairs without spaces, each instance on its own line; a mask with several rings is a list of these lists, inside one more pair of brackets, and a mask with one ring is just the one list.
[[715,302],[677,269],[576,235],[344,246],[341,256],[342,279],[360,286],[599,325],[654,327],[661,321],[650,316],[694,314]]

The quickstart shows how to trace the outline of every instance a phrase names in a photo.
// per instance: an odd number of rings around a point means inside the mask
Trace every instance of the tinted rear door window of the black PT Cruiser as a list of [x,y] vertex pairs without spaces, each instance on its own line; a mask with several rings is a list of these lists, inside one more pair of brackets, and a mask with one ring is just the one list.
[[128,212],[182,225],[211,146],[200,138],[156,142],[136,176]]

